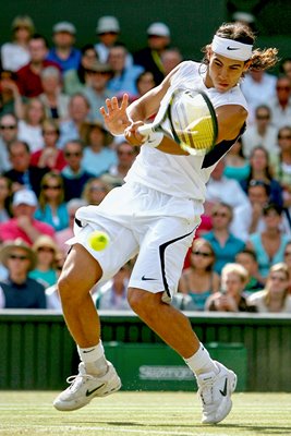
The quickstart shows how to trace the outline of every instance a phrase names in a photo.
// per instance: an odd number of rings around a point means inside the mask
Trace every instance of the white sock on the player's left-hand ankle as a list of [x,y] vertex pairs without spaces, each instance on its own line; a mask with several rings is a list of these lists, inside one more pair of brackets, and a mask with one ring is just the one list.
[[97,346],[81,348],[77,346],[80,359],[85,364],[86,373],[101,377],[108,371],[108,363],[104,353],[102,342]]

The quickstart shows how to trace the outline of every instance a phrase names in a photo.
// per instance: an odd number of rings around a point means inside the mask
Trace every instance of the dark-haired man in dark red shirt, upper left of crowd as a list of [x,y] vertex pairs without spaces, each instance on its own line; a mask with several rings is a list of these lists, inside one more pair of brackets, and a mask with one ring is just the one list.
[[[44,36],[35,34],[28,43],[31,61],[17,70],[17,85],[21,95],[33,98],[43,93],[40,73],[46,66],[58,66],[46,59],[48,44]],[[59,66],[58,66],[59,68]]]

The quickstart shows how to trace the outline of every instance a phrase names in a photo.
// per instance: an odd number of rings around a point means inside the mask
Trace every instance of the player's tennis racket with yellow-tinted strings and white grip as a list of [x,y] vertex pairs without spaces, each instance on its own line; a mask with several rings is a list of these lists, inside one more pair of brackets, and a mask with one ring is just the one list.
[[138,132],[147,136],[162,132],[191,155],[205,155],[216,144],[218,125],[211,101],[203,92],[178,88],[159,109],[151,124]]

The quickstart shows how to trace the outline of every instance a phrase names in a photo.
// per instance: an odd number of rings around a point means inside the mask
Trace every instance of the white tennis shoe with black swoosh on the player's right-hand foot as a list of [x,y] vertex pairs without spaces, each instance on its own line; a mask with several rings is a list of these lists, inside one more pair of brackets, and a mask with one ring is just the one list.
[[202,400],[203,424],[216,424],[231,411],[231,393],[237,386],[237,375],[221,363],[216,362],[219,373],[201,374],[197,378],[198,396]]

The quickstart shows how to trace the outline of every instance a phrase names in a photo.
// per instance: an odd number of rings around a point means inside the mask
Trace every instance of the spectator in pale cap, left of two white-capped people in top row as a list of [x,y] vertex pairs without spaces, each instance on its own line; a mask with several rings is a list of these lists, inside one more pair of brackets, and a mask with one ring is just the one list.
[[[95,45],[95,50],[98,55],[98,59],[101,63],[108,61],[108,55],[111,47],[113,47],[119,39],[120,25],[116,16],[101,16],[98,20],[96,34],[99,43]],[[126,66],[131,66],[133,63],[132,56],[126,55]]]

